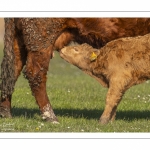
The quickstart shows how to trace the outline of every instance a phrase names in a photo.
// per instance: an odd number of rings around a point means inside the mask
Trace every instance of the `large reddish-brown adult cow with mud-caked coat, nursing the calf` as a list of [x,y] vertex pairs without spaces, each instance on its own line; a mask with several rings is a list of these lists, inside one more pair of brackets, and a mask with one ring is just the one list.
[[95,48],[127,36],[150,31],[149,18],[7,18],[5,19],[4,58],[0,115],[11,117],[11,96],[24,67],[25,77],[43,119],[58,122],[46,93],[46,74],[53,50],[70,41]]

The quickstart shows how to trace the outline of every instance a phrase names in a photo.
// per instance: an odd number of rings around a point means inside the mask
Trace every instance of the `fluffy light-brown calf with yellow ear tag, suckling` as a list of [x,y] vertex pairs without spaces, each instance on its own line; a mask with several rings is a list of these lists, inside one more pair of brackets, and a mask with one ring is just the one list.
[[127,89],[150,79],[150,34],[120,38],[99,50],[88,44],[67,46],[60,56],[108,87],[102,124],[115,118]]

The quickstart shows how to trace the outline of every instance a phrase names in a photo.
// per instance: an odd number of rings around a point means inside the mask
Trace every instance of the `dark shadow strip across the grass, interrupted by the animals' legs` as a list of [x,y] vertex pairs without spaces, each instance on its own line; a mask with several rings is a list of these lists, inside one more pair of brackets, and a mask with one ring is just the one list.
[[[54,109],[55,115],[60,117],[72,117],[72,118],[86,118],[86,119],[99,119],[103,110],[98,109]],[[38,109],[27,108],[13,108],[13,117],[25,116],[26,118],[34,118],[35,114],[40,115]],[[135,119],[150,119],[150,111],[118,111],[117,120],[132,121]]]

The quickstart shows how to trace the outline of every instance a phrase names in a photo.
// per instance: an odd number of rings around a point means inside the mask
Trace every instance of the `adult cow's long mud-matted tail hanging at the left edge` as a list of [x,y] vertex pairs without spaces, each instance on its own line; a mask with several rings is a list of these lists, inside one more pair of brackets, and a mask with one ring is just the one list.
[[15,86],[14,18],[5,18],[4,56],[1,64],[1,98],[11,96]]

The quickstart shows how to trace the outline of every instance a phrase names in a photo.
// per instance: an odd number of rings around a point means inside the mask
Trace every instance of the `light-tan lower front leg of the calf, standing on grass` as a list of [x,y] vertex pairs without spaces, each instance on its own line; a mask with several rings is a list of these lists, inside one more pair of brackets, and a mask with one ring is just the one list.
[[[115,84],[114,84],[115,85]],[[116,109],[121,101],[123,90],[117,86],[110,87],[106,97],[106,105],[102,116],[100,117],[100,124],[107,124],[113,121],[116,116]]]

